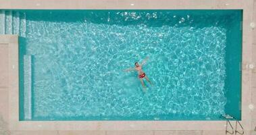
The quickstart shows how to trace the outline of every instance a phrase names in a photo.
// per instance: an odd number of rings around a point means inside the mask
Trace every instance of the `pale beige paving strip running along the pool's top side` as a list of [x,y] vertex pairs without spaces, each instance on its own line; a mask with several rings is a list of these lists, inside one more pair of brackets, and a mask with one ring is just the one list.
[[[240,0],[0,0],[0,9],[240,9],[253,7],[253,0],[240,2]],[[130,6],[134,3],[134,6]],[[228,3],[228,5],[226,5]]]

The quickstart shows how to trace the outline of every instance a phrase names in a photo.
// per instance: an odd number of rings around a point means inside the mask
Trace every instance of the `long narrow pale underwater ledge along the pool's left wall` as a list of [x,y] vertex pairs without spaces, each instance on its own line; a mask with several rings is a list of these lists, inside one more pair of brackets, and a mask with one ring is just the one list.
[[32,59],[24,55],[24,119],[32,118]]

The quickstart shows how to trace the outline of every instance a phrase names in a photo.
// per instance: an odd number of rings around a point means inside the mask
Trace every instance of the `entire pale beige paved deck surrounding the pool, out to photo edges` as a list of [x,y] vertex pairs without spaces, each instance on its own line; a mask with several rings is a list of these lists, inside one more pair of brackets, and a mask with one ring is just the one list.
[[[241,124],[256,134],[256,0],[0,0],[0,9],[243,9]],[[0,57],[1,135],[225,134],[226,121],[18,121],[18,36],[0,35]]]

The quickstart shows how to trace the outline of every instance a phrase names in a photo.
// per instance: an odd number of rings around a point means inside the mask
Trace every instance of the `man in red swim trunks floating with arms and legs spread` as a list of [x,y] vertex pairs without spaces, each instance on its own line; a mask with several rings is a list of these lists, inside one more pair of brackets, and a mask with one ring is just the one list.
[[130,72],[130,71],[136,70],[138,72],[138,78],[140,79],[140,82],[143,85],[143,88],[146,88],[146,86],[143,82],[143,78],[145,78],[150,84],[152,84],[151,81],[149,80],[149,78],[146,76],[145,72],[143,72],[143,65],[145,65],[147,59],[149,59],[149,57],[146,57],[141,62],[141,65],[139,65],[138,62],[135,62],[135,68],[128,68],[128,69],[124,70],[125,72]]

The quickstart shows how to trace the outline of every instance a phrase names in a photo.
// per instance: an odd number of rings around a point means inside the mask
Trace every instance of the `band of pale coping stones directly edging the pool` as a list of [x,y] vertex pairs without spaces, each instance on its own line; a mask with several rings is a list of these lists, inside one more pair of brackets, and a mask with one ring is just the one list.
[[[255,63],[253,44],[253,0],[0,0],[0,9],[242,9],[242,121],[245,130],[256,124],[255,72],[247,65]],[[131,5],[132,4],[132,5]],[[226,121],[19,121],[18,109],[18,36],[0,35],[0,45],[8,45],[9,130],[225,130]],[[1,46],[0,46],[1,47]],[[0,52],[1,53],[1,52]],[[234,122],[233,122],[234,126]]]

